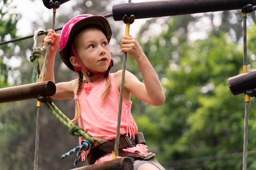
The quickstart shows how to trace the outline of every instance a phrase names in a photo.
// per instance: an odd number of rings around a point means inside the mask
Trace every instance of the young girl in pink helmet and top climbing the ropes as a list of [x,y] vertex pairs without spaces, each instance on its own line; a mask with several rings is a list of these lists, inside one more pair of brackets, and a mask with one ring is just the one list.
[[[51,43],[45,81],[54,81],[54,59],[59,46],[62,61],[68,68],[78,73],[79,78],[69,82],[56,83],[56,94],[53,99],[74,99],[76,113],[72,123],[79,122],[86,133],[92,137],[105,139],[109,144],[116,137],[117,115],[121,86],[121,74],[109,73],[113,65],[108,46],[112,32],[108,21],[99,15],[79,15],[73,17],[62,29],[61,35],[48,30],[44,43]],[[135,135],[138,128],[131,115],[131,93],[151,105],[162,105],[165,96],[157,74],[141,49],[138,41],[132,36],[121,40],[121,52],[127,52],[137,61],[144,83],[126,71],[124,96],[122,104],[120,141],[124,138],[132,142],[125,146],[123,153],[146,155],[147,146],[136,144]],[[79,142],[83,137],[79,138]],[[111,141],[112,140],[112,141]],[[121,143],[121,142],[120,142]],[[113,145],[113,142],[111,143]],[[126,144],[127,145],[127,144]],[[103,150],[95,143],[92,150],[86,151],[89,164],[112,160],[113,150]],[[112,146],[111,146],[112,147]],[[110,147],[110,148],[111,148]],[[114,147],[114,146],[113,146]],[[132,154],[130,154],[132,156]],[[83,158],[82,158],[83,159]],[[159,170],[162,167],[148,160],[134,161],[134,170]]]

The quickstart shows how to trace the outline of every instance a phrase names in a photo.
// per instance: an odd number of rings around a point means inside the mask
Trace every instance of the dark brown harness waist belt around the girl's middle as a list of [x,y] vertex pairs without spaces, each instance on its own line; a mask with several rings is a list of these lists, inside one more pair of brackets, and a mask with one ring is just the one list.
[[[135,139],[132,137],[130,139],[129,136],[121,135],[119,139],[119,147],[118,150],[124,149],[124,148],[130,148],[135,147],[136,142]],[[104,142],[103,144],[100,144],[99,146],[96,146],[87,155],[88,164],[94,164],[97,159],[111,153],[115,149],[115,139],[109,140],[107,142]]]

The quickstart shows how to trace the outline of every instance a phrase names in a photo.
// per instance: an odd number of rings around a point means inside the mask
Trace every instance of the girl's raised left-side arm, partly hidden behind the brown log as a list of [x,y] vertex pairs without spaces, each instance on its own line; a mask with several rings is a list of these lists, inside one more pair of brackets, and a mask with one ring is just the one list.
[[[48,34],[44,39],[45,48],[48,48],[48,44],[51,43],[51,50],[49,52],[49,59],[47,62],[47,69],[45,72],[45,81],[51,80],[55,82],[54,79],[54,60],[56,56],[56,52],[58,49],[58,44],[60,41],[60,35],[56,34],[54,30],[48,30]],[[45,57],[46,58],[46,57]],[[44,64],[45,65],[45,61]],[[42,72],[41,72],[42,74]],[[39,80],[41,80],[41,75],[39,76]],[[74,92],[72,91],[75,88],[77,80],[62,82],[56,84],[56,93],[51,96],[53,99],[69,99],[74,98]]]

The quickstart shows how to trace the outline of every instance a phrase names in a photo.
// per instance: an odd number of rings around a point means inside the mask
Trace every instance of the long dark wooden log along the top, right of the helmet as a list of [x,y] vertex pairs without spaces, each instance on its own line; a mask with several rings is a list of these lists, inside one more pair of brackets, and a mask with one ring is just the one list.
[[123,20],[124,14],[136,19],[185,15],[213,11],[242,9],[247,4],[256,5],[256,0],[157,0],[150,2],[115,4],[112,7],[115,21]]

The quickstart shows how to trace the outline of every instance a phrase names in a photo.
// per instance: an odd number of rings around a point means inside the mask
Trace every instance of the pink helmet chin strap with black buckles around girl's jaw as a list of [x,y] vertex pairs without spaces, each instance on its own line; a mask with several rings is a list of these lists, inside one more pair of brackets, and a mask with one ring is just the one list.
[[79,62],[79,67],[73,66],[75,71],[79,71],[79,70],[83,69],[83,70],[85,70],[88,77],[99,77],[99,76],[102,76],[102,75],[104,75],[104,77],[108,77],[110,69],[114,65],[114,61],[112,59],[110,60],[110,64],[108,66],[108,69],[105,72],[91,72],[79,61],[77,53],[76,53],[76,49],[74,47],[74,44],[71,45],[71,49],[73,51],[74,56],[76,57],[76,60]]

